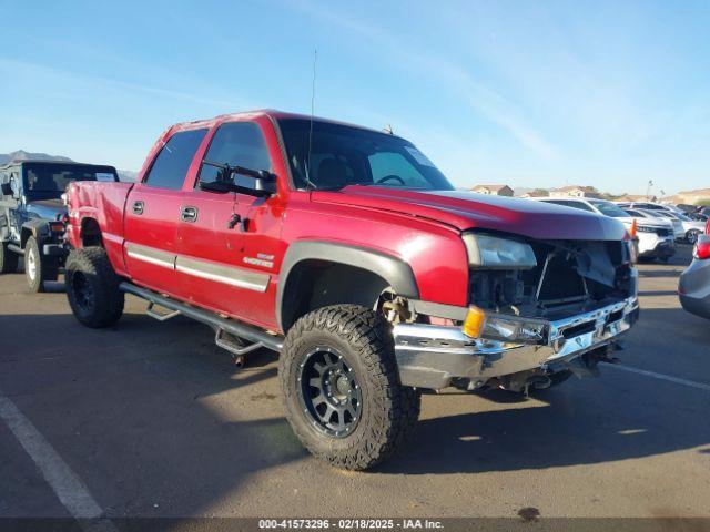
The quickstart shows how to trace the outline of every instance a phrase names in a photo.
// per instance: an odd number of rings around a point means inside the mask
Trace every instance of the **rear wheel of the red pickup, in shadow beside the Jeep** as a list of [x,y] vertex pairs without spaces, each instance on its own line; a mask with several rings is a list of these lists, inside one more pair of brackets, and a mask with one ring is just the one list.
[[74,316],[87,327],[114,324],[123,314],[121,278],[113,270],[105,249],[72,249],[64,266],[67,298]]

